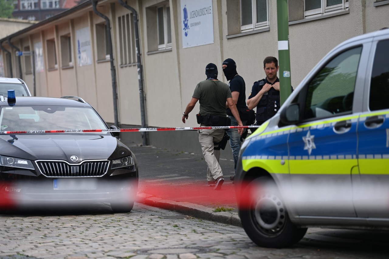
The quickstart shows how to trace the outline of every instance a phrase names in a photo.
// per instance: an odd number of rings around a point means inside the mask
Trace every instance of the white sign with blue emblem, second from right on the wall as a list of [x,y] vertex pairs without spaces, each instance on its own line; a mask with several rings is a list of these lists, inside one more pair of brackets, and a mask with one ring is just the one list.
[[78,66],[92,64],[91,37],[89,28],[85,27],[76,31]]

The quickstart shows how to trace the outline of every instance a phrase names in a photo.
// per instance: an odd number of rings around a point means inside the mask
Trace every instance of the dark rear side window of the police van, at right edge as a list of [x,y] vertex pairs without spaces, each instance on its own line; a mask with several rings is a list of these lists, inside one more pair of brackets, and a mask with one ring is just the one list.
[[389,40],[377,43],[371,72],[369,108],[389,109]]

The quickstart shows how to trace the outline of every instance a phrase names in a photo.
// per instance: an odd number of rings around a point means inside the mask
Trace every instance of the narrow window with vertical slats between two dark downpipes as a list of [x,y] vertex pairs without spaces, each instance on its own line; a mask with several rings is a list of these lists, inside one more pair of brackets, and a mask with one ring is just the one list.
[[133,14],[119,16],[117,26],[119,30],[120,65],[133,64],[136,62]]

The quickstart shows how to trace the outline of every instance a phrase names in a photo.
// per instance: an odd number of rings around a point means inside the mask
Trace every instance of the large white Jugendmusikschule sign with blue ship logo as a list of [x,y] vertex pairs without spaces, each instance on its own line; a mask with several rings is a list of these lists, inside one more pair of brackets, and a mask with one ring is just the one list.
[[181,0],[182,47],[214,43],[212,0]]

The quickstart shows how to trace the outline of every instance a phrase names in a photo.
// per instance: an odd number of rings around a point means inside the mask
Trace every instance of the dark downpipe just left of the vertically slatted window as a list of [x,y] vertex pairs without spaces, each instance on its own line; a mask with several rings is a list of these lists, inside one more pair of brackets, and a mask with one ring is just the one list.
[[108,38],[108,48],[109,48],[109,61],[111,64],[111,78],[112,78],[112,97],[114,101],[114,117],[115,117],[115,126],[119,127],[119,119],[117,116],[117,93],[116,93],[116,69],[114,65],[114,52],[112,50],[112,38],[111,38],[111,23],[109,21],[109,18],[99,12],[97,10],[97,0],[92,0],[92,6],[93,6],[93,11],[95,14],[98,16],[102,17],[105,19],[105,22],[107,23],[107,38]]

